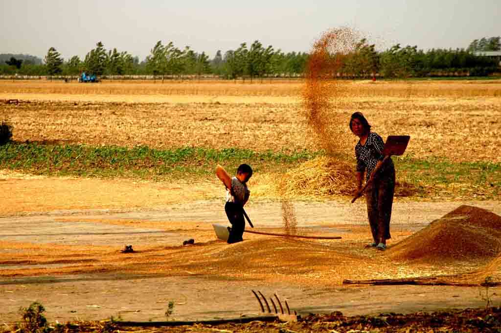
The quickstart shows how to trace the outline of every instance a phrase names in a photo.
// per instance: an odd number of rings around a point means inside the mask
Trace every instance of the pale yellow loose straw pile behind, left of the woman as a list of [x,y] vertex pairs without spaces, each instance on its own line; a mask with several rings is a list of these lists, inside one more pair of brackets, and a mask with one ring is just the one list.
[[320,156],[286,173],[278,188],[283,197],[351,195],[356,189],[353,165]]

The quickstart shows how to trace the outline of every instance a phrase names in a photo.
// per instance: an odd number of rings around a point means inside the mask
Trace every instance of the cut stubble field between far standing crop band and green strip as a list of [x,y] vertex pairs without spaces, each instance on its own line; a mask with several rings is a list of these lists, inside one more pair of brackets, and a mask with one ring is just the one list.
[[[250,95],[244,104],[219,102],[212,97],[204,97],[204,103],[193,103],[190,96],[176,102],[179,97],[176,95],[169,95],[169,100],[163,99],[163,95],[149,95],[146,97],[149,103],[127,103],[122,98],[118,98],[120,103],[90,102],[85,98],[81,101],[78,96],[68,102],[64,100],[71,98],[71,93],[47,101],[50,95],[13,95],[14,92],[6,90],[16,89],[6,84],[0,82],[0,87],[4,88],[0,98],[16,96],[21,103],[0,106],[0,118],[12,123],[14,139],[19,141],[286,151],[322,148],[301,115],[300,96],[266,103],[266,97]],[[340,124],[333,129],[333,137],[339,138],[339,151],[352,155],[356,138],[349,131],[346,119],[358,110],[383,137],[409,134],[412,139],[408,155],[445,157],[454,161],[501,161],[496,153],[496,137],[501,135],[501,99],[493,95],[474,95],[468,83],[460,85],[463,96],[447,95],[447,84],[441,84],[430,91],[433,94],[429,97],[415,95],[413,90],[409,96],[389,97],[391,93],[374,96],[370,88],[377,85],[367,84],[366,95],[337,101],[330,121]],[[384,85],[391,91],[391,83]],[[395,85],[399,91],[401,84]],[[418,85],[426,86],[424,83]],[[479,85],[501,90],[501,84]],[[29,90],[30,86],[25,89]],[[99,100],[99,95],[87,96]],[[196,95],[192,97],[197,100]],[[239,119],[245,119],[244,126]]]

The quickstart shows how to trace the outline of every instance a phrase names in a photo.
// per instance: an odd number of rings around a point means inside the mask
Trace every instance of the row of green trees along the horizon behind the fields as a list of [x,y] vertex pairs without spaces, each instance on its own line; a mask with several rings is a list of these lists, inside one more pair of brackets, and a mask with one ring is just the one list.
[[[474,40],[467,49],[419,50],[417,46],[401,47],[378,52],[375,45],[362,39],[351,52],[331,54],[339,60],[333,76],[361,77],[424,77],[444,75],[484,76],[497,70],[498,60],[477,56],[475,51],[498,51],[499,37]],[[82,72],[98,76],[154,75],[163,78],[201,76],[212,74],[225,79],[300,77],[308,62],[308,53],[284,53],[259,41],[250,46],[242,43],[224,54],[218,50],[212,59],[205,52],[195,52],[189,46],[176,47],[172,42],[158,41],[142,62],[137,56],[116,48],[106,50],[98,42],[84,59],[73,56],[63,59],[54,48],[49,48],[42,64],[23,61],[14,56],[0,64],[0,75],[80,75]]]

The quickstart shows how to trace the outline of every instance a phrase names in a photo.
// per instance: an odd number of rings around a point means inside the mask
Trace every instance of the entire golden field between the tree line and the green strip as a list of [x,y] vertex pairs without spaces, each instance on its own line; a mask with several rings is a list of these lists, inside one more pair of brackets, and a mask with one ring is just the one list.
[[[499,162],[501,82],[344,83],[333,96],[339,153],[352,154],[348,128],[361,111],[383,137],[412,137],[408,154],[418,158]],[[2,117],[14,139],[152,148],[204,146],[253,150],[317,150],[307,128],[304,83],[267,82],[0,82]],[[26,103],[25,101],[31,101]]]

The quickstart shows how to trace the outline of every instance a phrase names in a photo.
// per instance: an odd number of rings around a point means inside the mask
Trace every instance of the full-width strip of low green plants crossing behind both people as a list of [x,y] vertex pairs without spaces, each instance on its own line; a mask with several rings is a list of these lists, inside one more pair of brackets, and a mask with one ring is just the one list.
[[[206,179],[212,176],[217,163],[231,174],[240,163],[252,165],[256,173],[281,173],[322,154],[323,151],[308,150],[152,149],[11,141],[0,146],[0,169],[47,176]],[[354,163],[351,155],[338,157]],[[501,195],[501,163],[417,159],[410,155],[393,160],[397,180],[410,185],[411,193],[418,197],[499,199]]]

